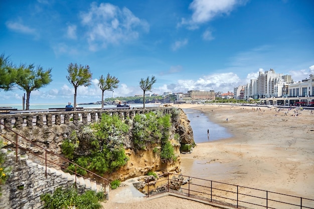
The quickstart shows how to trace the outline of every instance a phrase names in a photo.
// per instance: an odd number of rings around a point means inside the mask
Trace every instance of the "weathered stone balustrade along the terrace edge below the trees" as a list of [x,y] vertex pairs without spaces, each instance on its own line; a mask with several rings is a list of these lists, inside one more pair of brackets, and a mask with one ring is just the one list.
[[[122,109],[122,110],[84,110],[84,111],[71,111],[71,112],[39,112],[39,113],[15,113],[15,114],[1,114],[0,121],[5,126],[10,128],[22,129],[28,127],[32,129],[33,126],[43,127],[47,125],[69,125],[73,123],[88,124],[101,120],[103,113],[108,115],[118,115],[122,120],[127,117],[133,118],[135,114],[148,113],[151,111],[162,111],[164,114],[170,113],[173,107],[160,107],[160,108],[140,108],[140,109]],[[0,131],[3,126],[0,125]]]

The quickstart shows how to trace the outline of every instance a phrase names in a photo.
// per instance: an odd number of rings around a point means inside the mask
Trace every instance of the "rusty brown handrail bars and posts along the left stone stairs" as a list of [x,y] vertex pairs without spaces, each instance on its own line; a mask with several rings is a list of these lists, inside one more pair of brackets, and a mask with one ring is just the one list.
[[[83,175],[80,175],[79,173],[76,172],[76,170],[77,170],[77,167],[79,167],[80,169],[85,170],[85,171],[86,171],[87,173],[89,173],[90,175],[92,175],[92,176],[97,176],[97,177],[100,178],[102,181],[104,181],[104,184],[105,184],[105,185],[108,185],[108,184],[109,184],[109,180],[108,180],[108,179],[106,179],[106,178],[104,178],[104,177],[102,177],[102,176],[100,176],[100,175],[98,175],[98,174],[96,174],[96,173],[94,173],[94,172],[92,172],[92,171],[90,171],[90,170],[87,170],[86,168],[84,168],[84,167],[82,167],[82,166],[80,166],[80,165],[78,165],[78,164],[76,164],[76,163],[74,163],[74,162],[71,162],[70,160],[68,160],[68,159],[66,159],[66,158],[64,158],[64,157],[62,157],[62,156],[60,156],[59,154],[56,154],[56,153],[54,153],[54,152],[52,152],[52,151],[50,151],[50,150],[48,150],[48,149],[45,149],[44,147],[42,147],[42,146],[40,146],[40,145],[38,145],[38,144],[32,142],[31,140],[25,138],[25,137],[22,136],[21,134],[19,134],[19,133],[17,133],[16,131],[12,130],[10,127],[7,127],[7,126],[4,125],[2,122],[0,122],[0,125],[3,125],[7,130],[10,130],[10,131],[12,131],[13,133],[16,134],[16,141],[13,141],[13,140],[7,138],[6,136],[4,136],[2,133],[0,133],[0,135],[1,135],[2,137],[4,137],[5,139],[11,141],[13,144],[16,145],[16,149],[17,149],[17,150],[16,150],[16,160],[18,160],[18,154],[17,154],[17,153],[18,153],[18,148],[23,149],[23,150],[25,150],[25,151],[31,152],[32,154],[38,156],[39,158],[45,160],[45,167],[46,167],[45,175],[46,175],[46,176],[47,176],[47,164],[48,164],[47,161],[48,161],[48,162],[50,162],[50,163],[52,163],[52,164],[55,164],[55,165],[60,166],[61,168],[63,168],[63,169],[65,169],[65,170],[69,171],[70,173],[73,173],[73,174],[75,175],[75,185],[76,185],[76,178],[77,178],[77,176],[81,176],[81,177],[83,177],[83,178],[85,178],[85,179],[89,179],[90,181],[95,182],[95,183],[98,184],[98,185],[101,185],[102,187],[104,187],[104,192],[106,192],[106,186],[103,186],[103,183],[98,183],[97,181],[95,181],[95,180],[93,180],[93,179],[91,179],[91,178],[88,178],[88,177],[85,177],[85,176],[83,176]],[[42,156],[40,156],[40,155],[38,155],[38,154],[36,154],[36,153],[33,152],[32,150],[29,150],[29,149],[27,149],[27,148],[24,148],[24,147],[20,146],[20,145],[18,144],[18,136],[20,136],[21,138],[23,138],[23,139],[25,139],[26,141],[30,142],[30,143],[31,143],[32,145],[34,145],[35,147],[39,147],[40,149],[44,150],[44,151],[45,151],[45,158],[42,157]],[[68,162],[68,163],[74,164],[74,165],[75,165],[75,171],[69,170],[68,168],[64,167],[63,165],[60,165],[60,164],[58,164],[58,163],[56,163],[56,162],[54,162],[54,161],[52,161],[52,160],[47,159],[47,153],[50,153],[50,154],[53,155],[53,156],[59,157],[59,158],[61,158],[63,161],[66,161],[66,162]]]

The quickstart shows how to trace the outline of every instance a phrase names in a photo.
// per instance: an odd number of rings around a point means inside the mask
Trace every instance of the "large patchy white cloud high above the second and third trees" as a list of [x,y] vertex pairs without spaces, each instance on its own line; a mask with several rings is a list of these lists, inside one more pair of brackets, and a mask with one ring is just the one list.
[[92,3],[88,12],[80,14],[81,23],[87,28],[86,37],[91,51],[136,40],[141,32],[148,32],[146,21],[135,17],[130,10],[101,3]]

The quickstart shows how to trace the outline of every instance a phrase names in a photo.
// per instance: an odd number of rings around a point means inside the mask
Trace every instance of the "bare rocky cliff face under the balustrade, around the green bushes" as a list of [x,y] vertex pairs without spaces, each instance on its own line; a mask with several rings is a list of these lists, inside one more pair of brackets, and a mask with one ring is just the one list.
[[[135,149],[132,136],[128,134],[128,136],[125,137],[126,140],[123,142],[125,154],[129,158],[128,161],[124,166],[120,167],[114,172],[104,174],[103,177],[107,178],[108,180],[119,179],[123,181],[131,177],[145,175],[148,171],[154,171],[157,174],[163,174],[166,172],[180,173],[180,149],[185,147],[185,149],[181,151],[192,151],[192,148],[195,145],[193,139],[193,130],[190,126],[190,121],[182,109],[176,109],[174,111],[174,114],[172,114],[171,117],[171,125],[172,126],[169,131],[169,141],[174,147],[174,154],[177,156],[177,160],[163,162],[160,154],[158,154],[162,149],[161,144],[153,144],[152,146],[149,146],[143,150]],[[21,130],[14,130],[37,145],[40,145],[45,149],[49,149],[56,154],[63,155],[61,150],[62,142],[69,138],[73,131],[78,133],[82,132],[83,127],[83,124],[74,125],[71,123],[68,125],[53,125],[52,127],[34,126],[32,129],[24,127]],[[6,132],[5,130],[2,130],[2,132],[7,137],[15,139],[14,134]],[[23,140],[21,137],[19,137],[18,140],[22,147],[44,156],[45,153],[43,150],[30,146],[30,144],[25,142],[25,140]],[[10,148],[10,146],[12,146],[13,149],[13,145],[10,145],[9,142],[7,148]],[[152,150],[151,147],[154,147],[154,150]],[[86,152],[88,152],[88,150],[86,150]],[[29,156],[29,158],[38,163],[42,160],[32,156]],[[55,160],[57,164],[64,163],[58,158],[53,159],[52,157],[52,160]],[[60,167],[58,169],[60,169]]]

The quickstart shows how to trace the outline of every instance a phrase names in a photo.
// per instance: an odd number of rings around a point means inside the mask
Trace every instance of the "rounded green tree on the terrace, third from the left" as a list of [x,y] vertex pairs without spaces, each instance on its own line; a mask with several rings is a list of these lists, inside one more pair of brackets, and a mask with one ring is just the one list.
[[74,87],[74,111],[76,110],[76,93],[79,86],[90,86],[92,80],[92,73],[89,70],[89,66],[77,65],[76,63],[70,63],[68,65],[68,73],[66,76],[70,84]]

